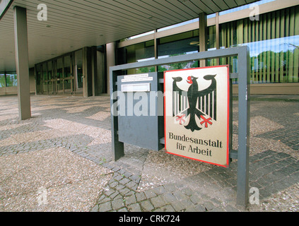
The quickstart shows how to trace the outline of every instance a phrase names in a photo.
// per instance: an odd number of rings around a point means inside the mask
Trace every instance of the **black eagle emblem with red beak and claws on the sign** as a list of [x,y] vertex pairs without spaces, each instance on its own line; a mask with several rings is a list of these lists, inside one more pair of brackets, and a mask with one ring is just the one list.
[[182,124],[183,117],[189,116],[189,123],[184,126],[186,129],[201,130],[196,121],[196,117],[200,120],[201,125],[208,127],[212,124],[211,119],[216,121],[216,75],[206,75],[204,79],[211,81],[211,85],[204,90],[199,90],[198,78],[188,76],[188,90],[181,90],[177,83],[182,81],[181,77],[172,78],[172,117]]

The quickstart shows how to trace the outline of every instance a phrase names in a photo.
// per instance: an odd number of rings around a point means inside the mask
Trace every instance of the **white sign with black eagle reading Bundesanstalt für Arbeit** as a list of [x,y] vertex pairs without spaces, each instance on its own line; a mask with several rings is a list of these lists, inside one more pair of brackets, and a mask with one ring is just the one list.
[[228,167],[229,67],[164,72],[165,150]]

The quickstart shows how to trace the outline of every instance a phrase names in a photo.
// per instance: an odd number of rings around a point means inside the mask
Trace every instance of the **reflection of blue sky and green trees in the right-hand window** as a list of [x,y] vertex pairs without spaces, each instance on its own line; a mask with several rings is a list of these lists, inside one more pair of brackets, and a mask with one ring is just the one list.
[[252,83],[298,82],[299,35],[248,42]]

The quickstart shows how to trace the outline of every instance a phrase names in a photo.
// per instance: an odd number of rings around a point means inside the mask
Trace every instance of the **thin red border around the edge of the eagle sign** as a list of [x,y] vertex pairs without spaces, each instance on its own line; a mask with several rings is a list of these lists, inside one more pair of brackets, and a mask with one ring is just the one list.
[[[226,165],[221,165],[221,164],[217,164],[217,163],[214,163],[214,162],[207,162],[207,161],[204,161],[204,160],[197,160],[195,158],[192,158],[192,157],[187,157],[187,156],[184,156],[184,155],[178,155],[178,154],[175,154],[175,153],[170,153],[167,149],[166,149],[166,108],[165,108],[165,105],[166,105],[166,102],[165,102],[165,95],[164,95],[164,141],[165,141],[165,150],[166,150],[166,153],[168,154],[171,154],[171,155],[177,155],[177,156],[180,156],[180,157],[186,157],[186,158],[189,158],[191,160],[196,160],[196,161],[199,161],[199,162],[206,162],[206,163],[209,163],[211,165],[218,165],[218,166],[221,166],[221,167],[225,167],[225,168],[228,168],[228,165],[229,165],[229,154],[230,154],[230,66],[229,65],[218,65],[218,66],[205,66],[205,67],[198,67],[198,68],[193,68],[193,69],[178,69],[178,70],[171,70],[171,71],[188,71],[188,70],[196,70],[196,69],[211,69],[211,68],[218,68],[218,67],[225,67],[228,69],[228,75],[227,75],[227,80],[228,80],[228,128],[227,128],[227,147],[226,147]],[[168,73],[170,71],[164,71],[164,75],[163,75],[163,79],[164,79],[164,92],[165,92],[165,76],[166,76],[166,73]]]

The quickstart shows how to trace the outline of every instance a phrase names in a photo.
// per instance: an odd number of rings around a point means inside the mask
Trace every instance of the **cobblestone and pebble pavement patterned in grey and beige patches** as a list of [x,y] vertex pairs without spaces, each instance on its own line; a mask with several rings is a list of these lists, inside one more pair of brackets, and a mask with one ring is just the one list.
[[[24,121],[17,97],[0,97],[0,211],[298,211],[299,97],[252,97],[250,188],[259,204],[246,210],[235,205],[237,160],[223,168],[125,144],[112,161],[107,95],[32,95]],[[234,100],[234,149],[237,131]]]

